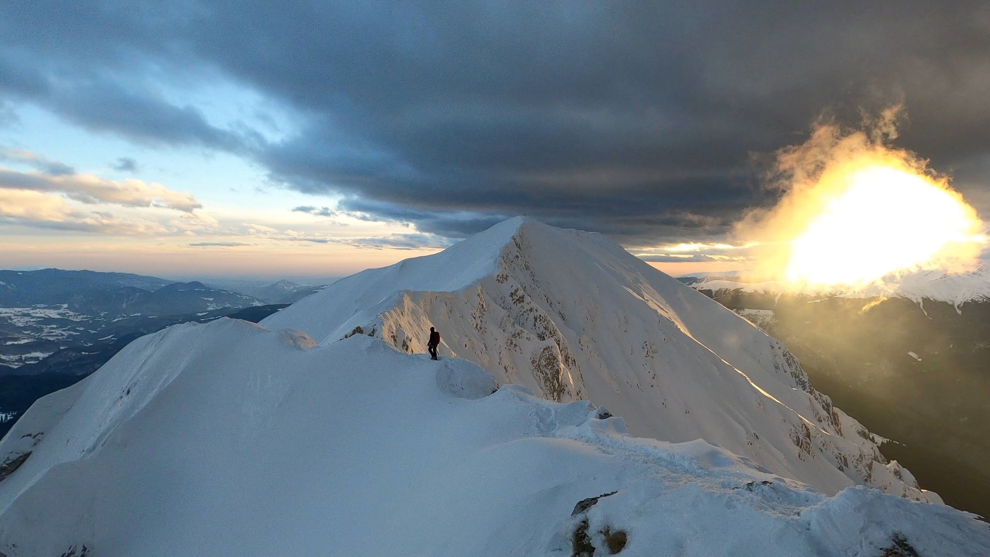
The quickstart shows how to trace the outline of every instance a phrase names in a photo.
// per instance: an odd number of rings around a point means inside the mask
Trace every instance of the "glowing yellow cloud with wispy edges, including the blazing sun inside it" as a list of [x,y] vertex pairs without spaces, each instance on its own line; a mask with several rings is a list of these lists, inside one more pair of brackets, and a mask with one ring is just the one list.
[[983,223],[948,176],[891,147],[899,112],[857,130],[821,123],[808,141],[777,153],[769,184],[779,201],[748,212],[735,231],[759,244],[759,273],[861,286],[975,264]]

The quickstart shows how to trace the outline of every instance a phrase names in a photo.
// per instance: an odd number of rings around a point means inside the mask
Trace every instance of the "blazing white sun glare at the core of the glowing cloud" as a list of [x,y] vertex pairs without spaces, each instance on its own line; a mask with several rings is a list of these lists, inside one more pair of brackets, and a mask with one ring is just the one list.
[[820,212],[790,242],[786,277],[806,284],[862,285],[928,266],[981,242],[982,223],[962,196],[911,167],[843,167]]

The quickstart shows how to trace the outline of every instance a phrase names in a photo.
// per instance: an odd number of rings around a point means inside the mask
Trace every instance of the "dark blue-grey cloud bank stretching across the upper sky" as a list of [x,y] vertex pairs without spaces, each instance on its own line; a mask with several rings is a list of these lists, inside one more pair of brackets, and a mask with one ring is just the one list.
[[[6,2],[0,108],[239,154],[447,237],[519,213],[635,245],[721,234],[771,201],[753,154],[823,110],[903,101],[898,144],[963,187],[990,157],[985,2],[298,4]],[[162,79],[233,80],[305,125],[220,128]]]

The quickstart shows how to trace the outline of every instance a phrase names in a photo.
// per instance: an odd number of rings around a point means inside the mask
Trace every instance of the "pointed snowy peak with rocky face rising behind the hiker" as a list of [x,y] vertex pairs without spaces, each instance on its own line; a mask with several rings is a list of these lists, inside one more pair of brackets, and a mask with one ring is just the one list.
[[775,339],[598,234],[514,218],[433,256],[342,279],[261,322],[321,344],[372,335],[479,364],[499,384],[588,399],[636,435],[705,439],[826,493],[920,501]]

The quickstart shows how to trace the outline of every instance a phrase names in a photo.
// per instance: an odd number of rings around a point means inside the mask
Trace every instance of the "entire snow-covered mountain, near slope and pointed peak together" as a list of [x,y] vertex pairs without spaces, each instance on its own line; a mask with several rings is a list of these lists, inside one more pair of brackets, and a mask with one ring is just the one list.
[[[40,399],[0,441],[0,551],[990,553],[779,343],[601,236],[513,219],[283,311]],[[408,353],[430,324],[440,362]]]

